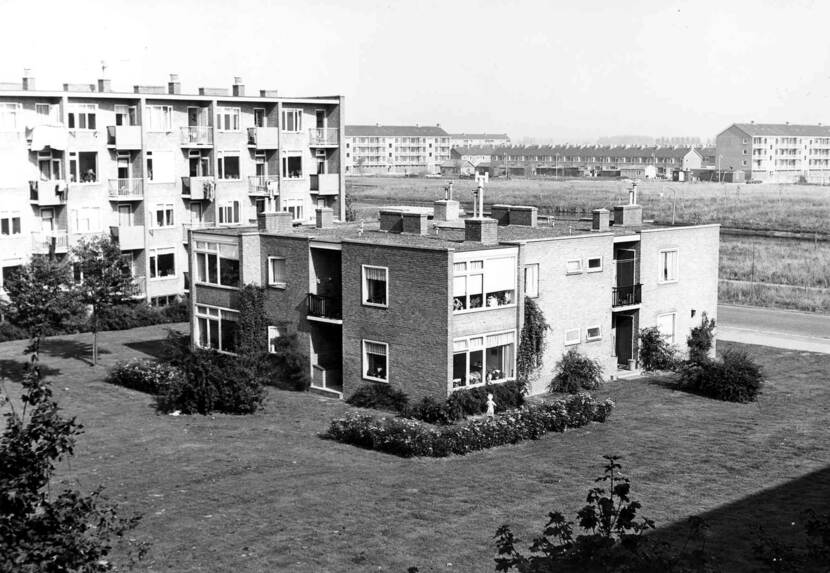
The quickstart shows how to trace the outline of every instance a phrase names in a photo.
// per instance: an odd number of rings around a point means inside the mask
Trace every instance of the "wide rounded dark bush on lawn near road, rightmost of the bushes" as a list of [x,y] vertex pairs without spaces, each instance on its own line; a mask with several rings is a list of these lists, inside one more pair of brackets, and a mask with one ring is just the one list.
[[728,402],[753,402],[763,382],[761,367],[734,349],[724,352],[721,360],[689,363],[680,372],[682,388]]

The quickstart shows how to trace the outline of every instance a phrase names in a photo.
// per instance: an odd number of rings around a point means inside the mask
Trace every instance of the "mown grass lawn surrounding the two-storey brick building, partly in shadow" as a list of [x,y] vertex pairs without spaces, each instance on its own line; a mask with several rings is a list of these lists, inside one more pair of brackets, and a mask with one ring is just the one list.
[[[314,394],[271,391],[254,416],[173,417],[103,382],[117,358],[152,352],[164,334],[106,333],[97,367],[75,357],[90,335],[50,340],[42,356],[57,399],[86,428],[60,477],[104,485],[144,514],[147,570],[492,571],[496,527],[511,524],[529,545],[548,511],[581,507],[607,453],[624,456],[659,534],[675,535],[688,515],[710,519],[724,571],[756,569],[748,548],[764,516],[791,531],[802,509],[830,511],[830,355],[746,347],[770,380],[755,404],[616,382],[599,393],[617,402],[606,424],[407,460],[321,440],[349,407]],[[0,345],[6,376],[23,346]]]

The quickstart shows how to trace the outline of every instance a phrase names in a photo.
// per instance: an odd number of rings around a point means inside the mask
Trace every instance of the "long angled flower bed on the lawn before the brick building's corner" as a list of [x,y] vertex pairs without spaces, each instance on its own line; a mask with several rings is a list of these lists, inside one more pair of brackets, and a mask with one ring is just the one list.
[[332,420],[325,437],[401,457],[446,457],[476,450],[537,440],[548,432],[562,432],[589,422],[604,422],[611,400],[597,402],[590,394],[533,404],[492,418],[466,424],[433,426],[418,420],[349,414]]

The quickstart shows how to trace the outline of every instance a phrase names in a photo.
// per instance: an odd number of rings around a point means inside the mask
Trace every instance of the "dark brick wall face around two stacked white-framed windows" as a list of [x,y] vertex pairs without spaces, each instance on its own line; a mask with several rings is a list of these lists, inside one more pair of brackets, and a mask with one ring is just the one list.
[[[449,253],[344,243],[342,257],[344,397],[369,382],[362,376],[363,339],[389,345],[391,385],[413,400],[445,397],[451,358]],[[361,265],[389,269],[388,308],[362,304]]]

